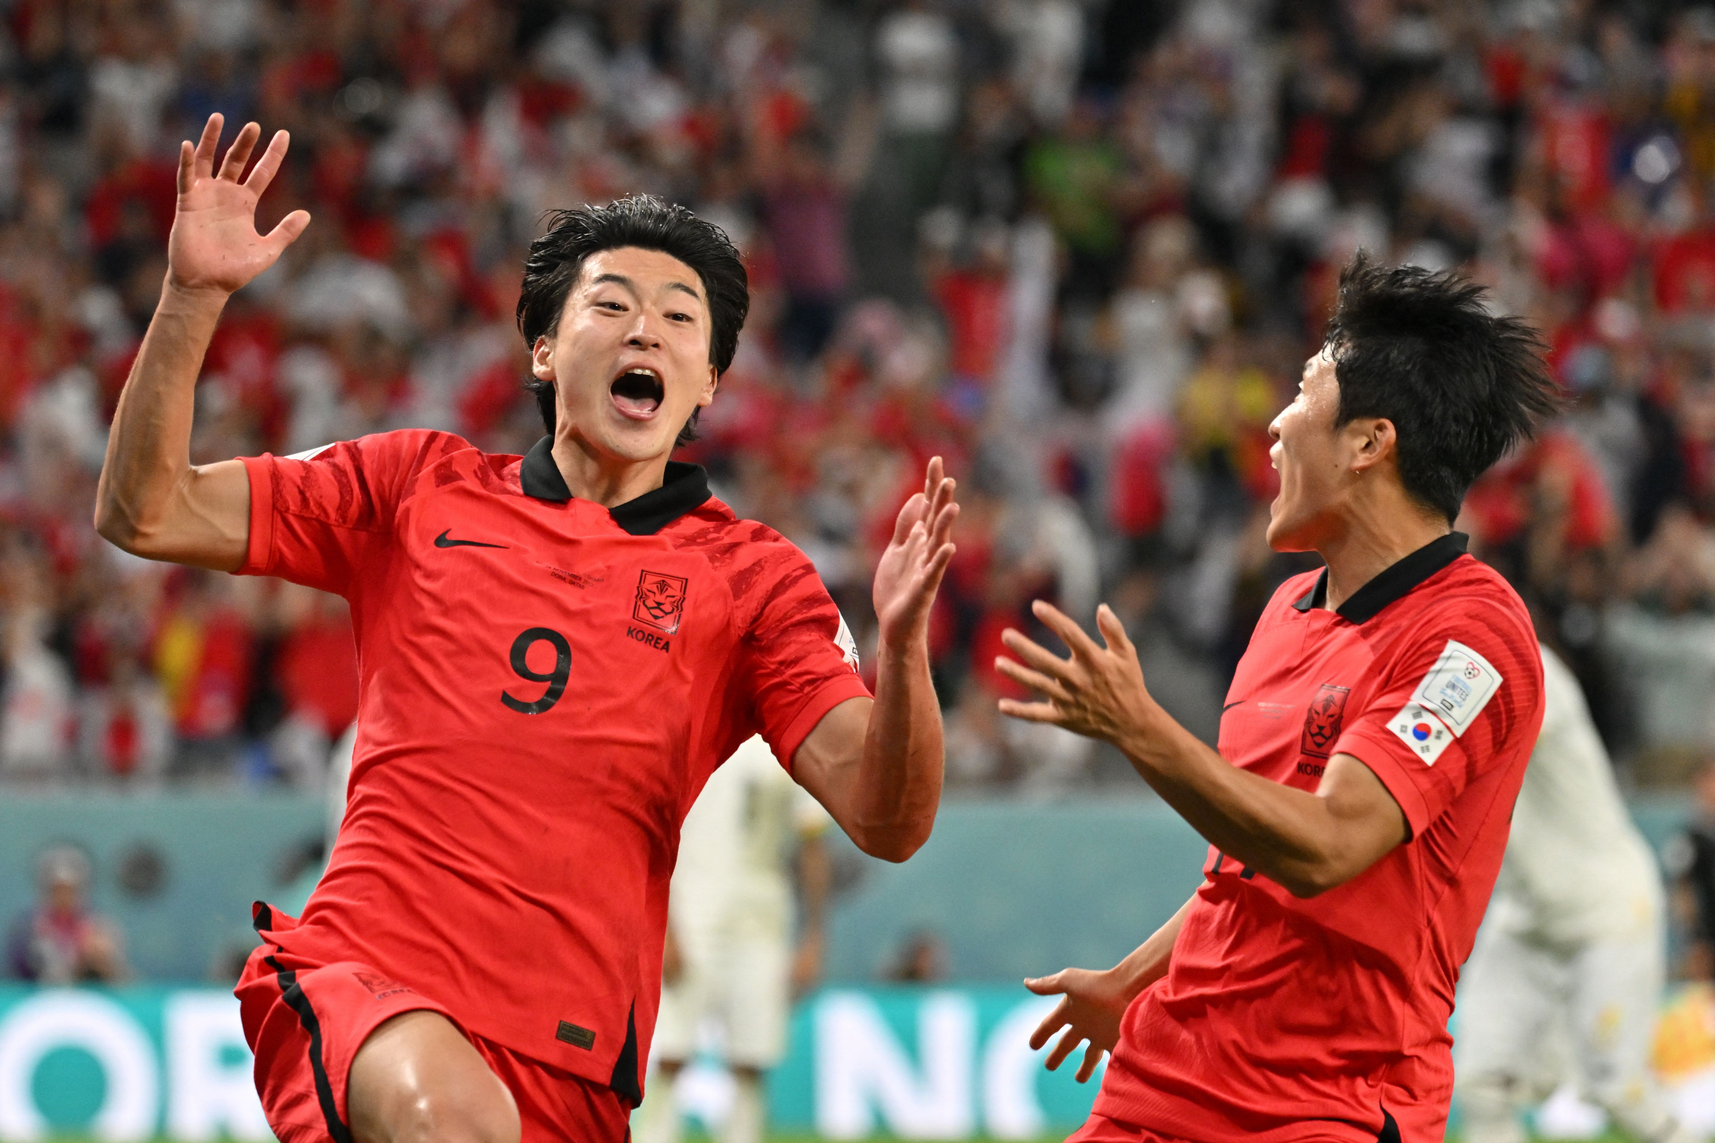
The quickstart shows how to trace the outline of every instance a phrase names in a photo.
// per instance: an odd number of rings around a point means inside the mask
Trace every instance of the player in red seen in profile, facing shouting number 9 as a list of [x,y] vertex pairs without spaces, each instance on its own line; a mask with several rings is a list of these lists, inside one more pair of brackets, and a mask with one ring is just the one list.
[[1267,538],[1326,567],[1274,595],[1209,749],[1149,696],[1106,607],[1070,658],[1007,632],[1002,711],[1104,739],[1204,838],[1197,893],[1032,1035],[1111,1050],[1074,1140],[1439,1140],[1447,1016],[1542,718],[1513,589],[1451,531],[1466,487],[1557,404],[1531,331],[1477,286],[1357,259],[1269,427]]

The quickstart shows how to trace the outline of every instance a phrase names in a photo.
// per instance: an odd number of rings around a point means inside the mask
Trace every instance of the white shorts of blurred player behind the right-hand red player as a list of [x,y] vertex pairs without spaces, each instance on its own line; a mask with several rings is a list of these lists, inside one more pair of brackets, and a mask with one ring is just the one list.
[[1650,1047],[1662,977],[1655,934],[1549,948],[1485,925],[1459,982],[1456,1085],[1499,1081],[1525,1104],[1576,1078],[1622,1126],[1658,1124]]

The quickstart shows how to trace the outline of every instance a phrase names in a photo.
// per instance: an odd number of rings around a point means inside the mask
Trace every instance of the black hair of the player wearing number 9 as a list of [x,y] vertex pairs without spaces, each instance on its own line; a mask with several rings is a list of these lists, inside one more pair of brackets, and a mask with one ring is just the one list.
[[[696,271],[708,298],[708,360],[715,375],[727,372],[749,312],[749,278],[724,230],[683,206],[647,194],[614,199],[607,206],[551,211],[547,218],[547,231],[530,243],[525,281],[518,291],[518,332],[525,336],[527,346],[533,350],[537,338],[554,336],[559,314],[566,308],[566,295],[583,272],[585,259],[600,250],[641,247],[669,254]],[[535,394],[542,423],[552,435],[554,384],[532,377],[525,389]],[[696,440],[698,413],[701,410],[691,413],[674,446]]]

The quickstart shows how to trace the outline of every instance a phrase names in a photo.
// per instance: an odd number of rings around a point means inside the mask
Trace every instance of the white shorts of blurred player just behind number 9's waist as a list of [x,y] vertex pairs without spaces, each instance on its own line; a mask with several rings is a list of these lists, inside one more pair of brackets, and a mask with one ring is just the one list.
[[729,1068],[772,1068],[785,1054],[792,948],[773,936],[701,936],[679,939],[684,972],[660,989],[655,1021],[659,1059],[688,1061],[696,1033],[713,1020],[725,1033]]

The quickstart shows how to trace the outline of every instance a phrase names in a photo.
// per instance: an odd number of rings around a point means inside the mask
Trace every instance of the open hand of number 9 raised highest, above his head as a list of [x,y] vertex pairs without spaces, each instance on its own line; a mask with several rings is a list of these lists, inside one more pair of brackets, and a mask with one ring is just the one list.
[[250,177],[240,182],[262,129],[245,123],[216,173],[223,122],[211,115],[196,147],[178,144],[178,211],[166,243],[166,281],[192,293],[233,293],[273,266],[310,224],[307,211],[293,211],[268,235],[256,233],[256,202],[280,171],[290,139],[274,132]]

